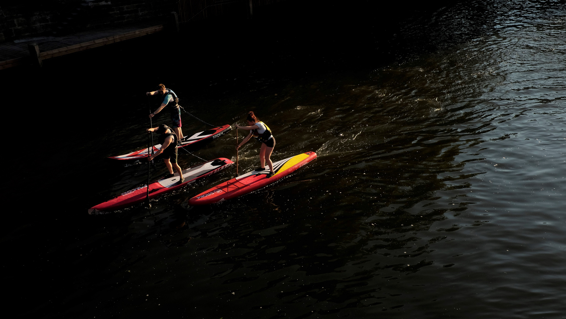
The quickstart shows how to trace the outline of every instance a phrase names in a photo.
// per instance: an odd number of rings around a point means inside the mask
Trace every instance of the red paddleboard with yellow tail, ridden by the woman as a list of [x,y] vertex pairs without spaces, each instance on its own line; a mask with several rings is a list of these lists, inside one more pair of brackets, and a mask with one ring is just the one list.
[[266,165],[265,170],[263,171],[251,171],[238,176],[237,178],[230,179],[228,182],[224,182],[216,187],[208,189],[208,191],[192,197],[192,199],[188,200],[188,204],[193,206],[207,205],[242,196],[293,173],[299,167],[314,160],[315,158],[315,152],[306,152],[285,158],[285,160],[273,163],[273,171],[275,174],[273,174],[270,178],[267,178],[267,174],[269,174],[269,167]]

